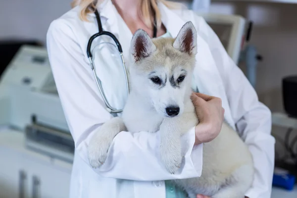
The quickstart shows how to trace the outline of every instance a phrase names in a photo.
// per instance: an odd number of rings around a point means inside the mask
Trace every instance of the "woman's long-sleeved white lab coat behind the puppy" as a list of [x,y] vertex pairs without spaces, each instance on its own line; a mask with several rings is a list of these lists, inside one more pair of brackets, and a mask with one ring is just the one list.
[[[170,10],[162,3],[158,6],[162,22],[173,37],[187,21],[194,23],[198,31],[194,83],[199,92],[222,99],[226,120],[239,131],[252,153],[256,171],[246,196],[270,198],[275,143],[270,134],[270,110],[258,101],[243,72],[200,16],[190,10]],[[79,19],[78,10],[76,7],[54,20],[47,35],[52,72],[75,141],[70,197],[165,198],[163,180],[200,176],[203,145],[194,146],[195,131],[194,128],[190,130],[183,137],[184,165],[177,174],[171,175],[158,157],[158,133],[120,132],[110,146],[105,163],[98,169],[90,167],[87,158],[89,140],[111,115],[99,94],[86,53],[89,38],[98,32],[95,14],[89,14],[90,22],[83,22]],[[99,12],[103,29],[118,38],[129,65],[131,31],[110,0],[101,5]],[[110,54],[104,50],[101,53],[97,60],[109,67]],[[97,71],[99,78],[113,77],[106,72],[104,69]],[[117,75],[113,81],[117,81]],[[112,87],[107,91],[110,90],[113,91]],[[125,101],[120,90],[118,87],[113,91],[117,93],[113,97],[114,103],[119,106]]]

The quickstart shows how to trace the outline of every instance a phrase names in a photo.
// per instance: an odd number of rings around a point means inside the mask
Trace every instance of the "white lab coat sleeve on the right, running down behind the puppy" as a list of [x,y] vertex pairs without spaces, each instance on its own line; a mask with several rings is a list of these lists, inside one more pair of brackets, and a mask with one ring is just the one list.
[[205,20],[201,21],[199,32],[209,44],[224,83],[232,117],[253,157],[254,180],[246,196],[270,198],[275,144],[275,139],[271,135],[271,112],[258,101],[255,90],[228,55],[214,31]]

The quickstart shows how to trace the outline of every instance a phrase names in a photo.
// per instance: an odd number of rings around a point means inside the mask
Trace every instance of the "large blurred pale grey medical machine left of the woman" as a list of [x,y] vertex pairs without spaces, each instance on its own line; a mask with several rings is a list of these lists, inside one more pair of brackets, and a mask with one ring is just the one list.
[[0,78],[0,126],[25,131],[27,148],[72,161],[74,142],[45,48],[22,46]]

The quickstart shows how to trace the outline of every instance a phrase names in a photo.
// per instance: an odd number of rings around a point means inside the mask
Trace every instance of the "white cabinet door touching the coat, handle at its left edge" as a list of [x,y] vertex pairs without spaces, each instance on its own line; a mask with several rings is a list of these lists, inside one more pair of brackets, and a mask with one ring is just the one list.
[[50,163],[30,161],[32,198],[68,198],[71,172]]

